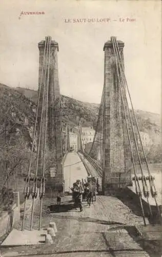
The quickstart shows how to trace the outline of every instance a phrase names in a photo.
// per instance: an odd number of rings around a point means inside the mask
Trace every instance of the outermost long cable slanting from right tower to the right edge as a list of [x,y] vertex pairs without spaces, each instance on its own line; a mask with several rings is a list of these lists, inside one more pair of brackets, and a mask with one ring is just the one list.
[[[126,83],[126,86],[127,86],[127,91],[128,91],[128,95],[129,95],[129,98],[130,98],[130,103],[131,103],[131,107],[132,107],[132,111],[133,111],[133,115],[134,115],[134,119],[135,119],[135,123],[136,123],[136,127],[137,127],[137,132],[138,132],[138,136],[139,136],[141,148],[142,148],[142,150],[143,150],[144,157],[145,157],[145,161],[146,161],[146,166],[147,166],[147,169],[148,169],[151,195],[152,195],[152,197],[153,197],[154,200],[155,200],[155,204],[156,204],[156,207],[157,207],[157,211],[158,211],[158,214],[159,214],[159,216],[160,216],[161,214],[160,214],[160,210],[159,210],[159,207],[158,207],[158,204],[157,204],[157,200],[156,200],[156,196],[157,196],[156,187],[155,187],[155,183],[154,183],[153,177],[152,177],[152,175],[151,175],[151,173],[150,173],[150,169],[149,169],[148,161],[147,161],[147,158],[146,158],[145,150],[144,150],[144,147],[143,147],[143,143],[142,143],[142,141],[141,141],[141,137],[140,137],[140,133],[139,133],[139,127],[138,127],[138,123],[137,123],[137,120],[136,120],[136,115],[135,115],[135,112],[134,112],[134,108],[133,108],[133,104],[132,104],[132,100],[131,100],[131,96],[130,96],[130,91],[129,91],[128,83],[127,83],[127,80],[126,80],[126,75],[125,75],[125,72],[124,72],[124,64],[123,64],[122,57],[121,57],[120,52],[119,52],[119,47],[118,47],[118,45],[117,45],[117,49],[118,49],[119,58],[120,58],[120,61],[121,61],[121,64],[122,64],[122,69],[123,69],[123,74],[124,74],[124,80],[125,80],[125,83]],[[152,186],[153,186],[153,188],[154,188],[154,191],[153,191]]]

